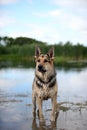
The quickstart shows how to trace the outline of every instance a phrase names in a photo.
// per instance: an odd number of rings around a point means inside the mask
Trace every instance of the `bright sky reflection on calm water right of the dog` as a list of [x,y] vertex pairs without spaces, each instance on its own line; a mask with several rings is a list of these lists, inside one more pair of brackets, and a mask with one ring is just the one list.
[[83,101],[87,99],[87,69],[81,71],[58,70],[57,79],[59,85],[60,100]]

